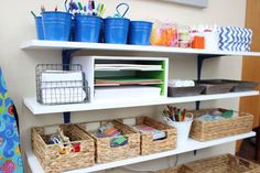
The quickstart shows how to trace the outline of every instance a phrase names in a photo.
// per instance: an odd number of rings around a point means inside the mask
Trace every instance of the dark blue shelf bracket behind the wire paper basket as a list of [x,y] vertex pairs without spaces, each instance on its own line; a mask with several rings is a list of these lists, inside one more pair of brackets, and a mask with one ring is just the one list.
[[[62,64],[66,65],[66,64],[71,64],[71,56],[73,53],[77,52],[78,50],[63,50],[62,52]],[[69,66],[64,66],[63,69],[64,71],[68,71]],[[64,119],[64,123],[71,123],[71,112],[63,112],[63,119]]]

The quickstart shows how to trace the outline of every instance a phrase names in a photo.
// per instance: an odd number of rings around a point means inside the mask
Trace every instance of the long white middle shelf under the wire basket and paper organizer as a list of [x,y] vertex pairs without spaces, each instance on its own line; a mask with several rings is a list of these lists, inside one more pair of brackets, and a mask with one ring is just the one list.
[[203,101],[203,100],[214,100],[224,98],[236,98],[246,96],[257,96],[259,91],[242,91],[242,93],[227,93],[217,95],[199,95],[199,96],[188,96],[188,97],[174,97],[174,98],[154,98],[154,99],[102,99],[93,100],[87,104],[69,104],[69,105],[57,105],[57,106],[44,106],[36,101],[36,98],[24,98],[23,101],[25,106],[34,115],[44,113],[57,113],[66,111],[85,111],[85,110],[100,110],[100,109],[113,109],[113,108],[126,108],[126,107],[141,107],[141,106],[154,106],[154,105],[167,105],[167,104],[181,104],[181,102],[192,102],[192,101]]

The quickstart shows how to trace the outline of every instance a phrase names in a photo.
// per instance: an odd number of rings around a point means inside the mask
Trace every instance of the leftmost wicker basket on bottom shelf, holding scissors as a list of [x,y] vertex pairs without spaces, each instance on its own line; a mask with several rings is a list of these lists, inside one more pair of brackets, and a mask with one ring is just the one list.
[[[46,134],[47,128],[61,128],[64,134],[72,140],[71,144],[79,144],[79,152],[61,154],[58,144],[46,144],[51,134]],[[65,143],[66,144],[66,143]],[[41,162],[45,172],[57,173],[95,164],[94,140],[82,129],[74,125],[59,125],[35,127],[32,129],[32,149]]]

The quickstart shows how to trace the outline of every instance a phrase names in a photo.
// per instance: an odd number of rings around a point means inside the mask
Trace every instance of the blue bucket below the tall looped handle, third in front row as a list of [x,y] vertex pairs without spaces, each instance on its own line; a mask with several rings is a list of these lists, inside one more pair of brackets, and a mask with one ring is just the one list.
[[105,43],[127,44],[130,20],[126,18],[105,19]]

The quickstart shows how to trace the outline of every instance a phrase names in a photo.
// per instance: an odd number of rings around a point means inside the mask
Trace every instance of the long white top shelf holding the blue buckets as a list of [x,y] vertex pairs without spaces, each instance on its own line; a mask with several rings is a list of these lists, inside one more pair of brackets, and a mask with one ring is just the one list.
[[61,41],[40,41],[31,40],[23,42],[22,50],[93,50],[93,51],[131,51],[131,52],[154,52],[154,53],[175,53],[175,54],[201,54],[219,56],[260,56],[260,52],[228,52],[228,51],[207,51],[197,48],[180,48],[169,46],[152,45],[128,45],[128,44],[105,44],[105,43],[84,43],[84,42],[61,42]]

